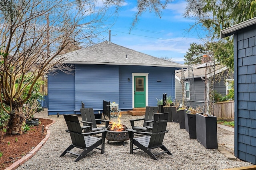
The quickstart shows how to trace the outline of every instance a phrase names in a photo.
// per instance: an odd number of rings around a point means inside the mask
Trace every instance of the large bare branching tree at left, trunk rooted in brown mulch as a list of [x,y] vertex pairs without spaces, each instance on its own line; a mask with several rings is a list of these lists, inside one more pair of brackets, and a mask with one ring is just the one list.
[[97,38],[106,7],[96,0],[0,2],[0,104],[10,115],[8,134],[22,134],[22,106],[36,81],[49,71],[72,68],[61,64],[60,52],[70,43],[88,46]]

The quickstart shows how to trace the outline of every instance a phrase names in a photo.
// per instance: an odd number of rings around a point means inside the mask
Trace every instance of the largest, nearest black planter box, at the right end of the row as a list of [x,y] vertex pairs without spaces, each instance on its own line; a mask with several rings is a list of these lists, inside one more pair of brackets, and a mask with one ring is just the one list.
[[217,149],[217,117],[196,113],[196,139],[206,149]]

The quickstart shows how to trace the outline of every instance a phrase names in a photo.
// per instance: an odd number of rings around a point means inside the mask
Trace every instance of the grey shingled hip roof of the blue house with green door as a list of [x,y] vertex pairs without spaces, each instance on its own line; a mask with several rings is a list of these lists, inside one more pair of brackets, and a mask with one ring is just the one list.
[[66,53],[64,56],[67,58],[64,62],[70,64],[187,67],[183,64],[166,61],[108,41]]

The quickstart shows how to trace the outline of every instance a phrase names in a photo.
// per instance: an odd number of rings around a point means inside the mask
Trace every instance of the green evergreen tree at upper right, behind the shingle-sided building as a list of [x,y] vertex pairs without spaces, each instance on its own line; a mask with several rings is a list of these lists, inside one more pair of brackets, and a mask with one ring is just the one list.
[[232,71],[234,69],[233,37],[220,40],[220,31],[256,17],[256,1],[186,0],[186,2],[184,17],[196,20],[192,28],[200,26],[206,29],[211,41],[208,47],[214,52],[215,59],[227,65]]

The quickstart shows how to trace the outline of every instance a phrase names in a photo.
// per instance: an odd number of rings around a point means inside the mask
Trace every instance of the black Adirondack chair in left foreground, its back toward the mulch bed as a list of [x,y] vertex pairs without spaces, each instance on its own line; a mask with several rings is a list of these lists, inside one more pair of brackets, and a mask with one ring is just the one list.
[[[75,162],[77,162],[93,149],[99,149],[101,150],[101,153],[104,154],[105,138],[108,130],[99,130],[96,132],[83,133],[77,116],[65,115],[65,114],[63,116],[68,126],[68,130],[66,130],[66,132],[70,133],[72,144],[68,146],[68,148],[60,156],[64,156],[66,153],[74,154],[77,156],[75,160]],[[102,134],[102,135],[101,135],[101,138],[91,136],[94,134]],[[101,145],[101,148],[98,148],[98,146],[100,145]],[[80,148],[83,151],[82,153],[78,154],[76,152],[71,151],[73,148]]]

